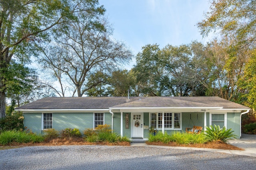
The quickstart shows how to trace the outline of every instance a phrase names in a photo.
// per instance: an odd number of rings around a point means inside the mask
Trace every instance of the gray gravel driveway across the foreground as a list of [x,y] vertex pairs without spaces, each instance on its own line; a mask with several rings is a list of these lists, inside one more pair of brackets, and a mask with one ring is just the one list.
[[0,169],[255,170],[256,158],[154,147],[40,146],[0,150]]

